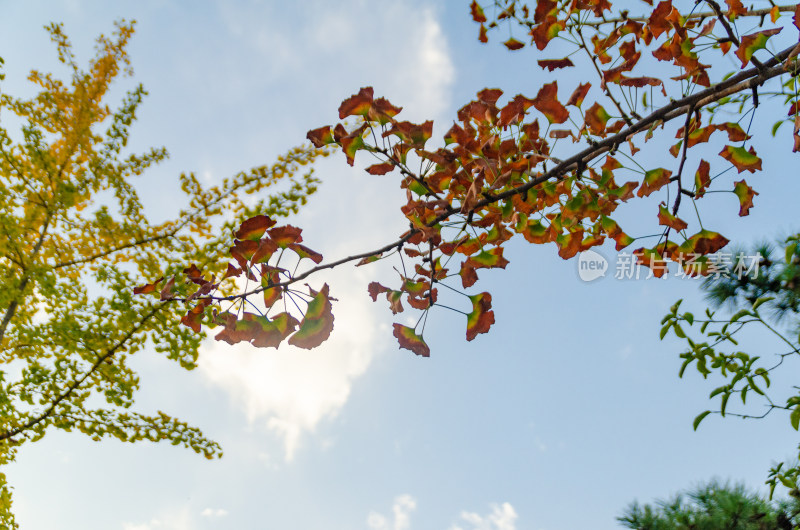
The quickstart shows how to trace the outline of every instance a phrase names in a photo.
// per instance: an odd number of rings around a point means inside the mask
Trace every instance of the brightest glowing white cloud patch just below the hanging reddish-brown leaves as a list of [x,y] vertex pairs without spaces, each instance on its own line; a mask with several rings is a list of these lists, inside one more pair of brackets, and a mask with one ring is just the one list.
[[341,410],[353,380],[378,348],[378,321],[366,284],[356,281],[352,270],[334,273],[328,281],[338,301],[333,334],[322,346],[307,351],[284,344],[276,351],[208,341],[201,349],[201,372],[241,406],[251,424],[263,422],[282,438],[287,460],[303,433],[314,432]]

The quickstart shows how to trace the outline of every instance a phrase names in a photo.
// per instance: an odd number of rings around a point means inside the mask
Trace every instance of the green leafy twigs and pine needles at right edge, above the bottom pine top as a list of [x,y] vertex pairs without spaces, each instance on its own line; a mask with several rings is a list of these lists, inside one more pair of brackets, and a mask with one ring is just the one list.
[[[731,310],[728,318],[720,317],[719,310],[706,309],[703,318],[681,312],[678,301],[661,321],[662,339],[671,330],[686,341],[687,347],[680,354],[681,377],[694,366],[704,378],[716,376],[723,382],[709,394],[710,399],[718,400],[719,409],[699,414],[695,429],[713,413],[754,419],[776,410],[788,414],[792,428],[800,428],[798,388],[772,387],[774,373],[782,367],[786,370],[800,358],[798,239],[800,234],[787,238],[781,251],[775,245],[762,244],[749,252],[734,252],[731,263],[706,278],[703,289],[715,305]],[[754,258],[759,256],[761,260],[755,264]],[[763,351],[742,351],[739,342],[748,330],[758,330],[773,340],[760,341]],[[754,401],[758,408],[754,408]],[[779,484],[796,491],[799,475],[797,465],[784,469],[784,464],[779,464],[770,470],[767,484],[771,491]]]

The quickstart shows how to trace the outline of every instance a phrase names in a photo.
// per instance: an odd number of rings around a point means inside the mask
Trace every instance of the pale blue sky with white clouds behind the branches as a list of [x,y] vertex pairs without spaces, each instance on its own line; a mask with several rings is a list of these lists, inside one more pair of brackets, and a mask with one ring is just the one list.
[[[86,61],[121,18],[137,31],[135,77],[119,94],[135,82],[150,93],[131,148],[171,155],[139,183],[154,220],[174,215],[181,172],[215,182],[270,163],[334,122],[362,86],[403,106],[405,119],[434,119],[441,138],[478,90],[534,96],[555,75],[530,50],[478,43],[466,1],[0,0],[3,91],[29,93],[27,72],[54,67],[45,24],[63,22]],[[559,86],[585,81],[576,70],[559,73]],[[753,130],[768,131],[774,110],[763,104]],[[736,243],[799,229],[788,133],[757,144],[764,171],[747,177],[760,193],[749,217],[736,216],[735,198],[709,207],[709,223]],[[638,156],[675,164],[657,142]],[[390,176],[366,174],[368,163],[319,163],[321,189],[291,219],[326,258],[404,230],[404,194]],[[654,229],[652,204],[624,208],[629,231]],[[598,252],[614,266],[613,246]],[[478,284],[493,294],[491,333],[466,342],[462,315],[434,313],[429,359],[398,349],[390,312],[367,296],[369,281],[391,277],[385,267],[324,277],[339,302],[333,336],[316,350],[209,340],[192,372],[143,352],[137,409],[201,427],[224,457],[51,432],[8,468],[22,528],[604,530],[619,528],[614,518],[634,499],[712,477],[764,491],[796,431],[774,416],[709,417],[694,432],[713,386],[679,379],[681,343],[658,340],[675,300],[705,307],[696,281],[584,282],[577,260],[551,245],[514,242],[505,255],[508,268]],[[761,338],[751,344],[769,354]]]

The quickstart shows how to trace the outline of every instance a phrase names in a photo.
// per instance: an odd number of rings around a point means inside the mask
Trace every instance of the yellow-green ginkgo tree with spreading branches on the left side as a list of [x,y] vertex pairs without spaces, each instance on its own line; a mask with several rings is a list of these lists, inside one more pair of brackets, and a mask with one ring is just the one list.
[[[299,172],[325,152],[295,148],[272,166],[208,188],[193,174],[181,175],[186,207],[174,220],[153,224],[133,177],[167,151],[126,149],[146,92],[135,86],[113,112],[107,101],[112,82],[132,74],[126,47],[133,23],[100,36],[85,70],[61,26],[47,31],[68,78],[33,71],[34,97],[0,94],[0,116],[21,123],[10,130],[0,121],[0,465],[53,428],[93,440],[169,441],[221,456],[196,427],[162,412],[129,410],[139,386],[132,356],[151,344],[190,370],[203,338],[173,325],[182,314],[178,304],[134,296],[129,286],[187,262],[221,276],[214,263],[230,247],[232,228],[257,213],[296,212],[317,184],[310,171]],[[270,186],[277,187],[270,195],[243,202],[242,195]],[[15,524],[10,507],[0,474],[3,528]]]

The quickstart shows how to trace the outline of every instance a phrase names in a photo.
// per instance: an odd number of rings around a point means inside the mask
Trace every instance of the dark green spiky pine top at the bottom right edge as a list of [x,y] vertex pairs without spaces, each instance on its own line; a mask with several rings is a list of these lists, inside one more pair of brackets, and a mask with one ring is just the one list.
[[617,521],[637,530],[791,530],[798,514],[797,499],[770,502],[742,485],[712,481],[655,504],[633,502]]

